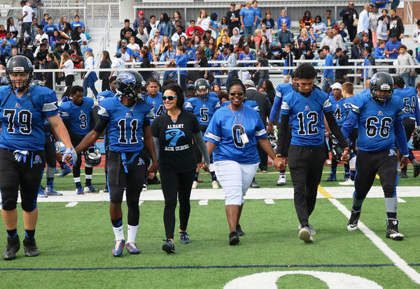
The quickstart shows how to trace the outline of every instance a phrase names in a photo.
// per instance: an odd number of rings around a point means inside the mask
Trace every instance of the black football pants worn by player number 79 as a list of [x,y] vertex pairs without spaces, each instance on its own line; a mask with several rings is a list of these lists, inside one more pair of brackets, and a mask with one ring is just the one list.
[[16,208],[20,189],[22,209],[26,212],[34,211],[44,168],[45,151],[29,151],[24,163],[15,160],[12,150],[0,148],[0,191],[3,209]]

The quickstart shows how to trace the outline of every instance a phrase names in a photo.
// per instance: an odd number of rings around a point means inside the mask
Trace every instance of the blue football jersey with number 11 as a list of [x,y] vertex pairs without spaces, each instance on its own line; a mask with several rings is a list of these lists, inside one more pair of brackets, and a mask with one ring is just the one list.
[[148,103],[123,105],[120,97],[106,98],[99,103],[99,117],[109,121],[109,149],[116,152],[138,152],[144,148],[143,125],[155,113]]

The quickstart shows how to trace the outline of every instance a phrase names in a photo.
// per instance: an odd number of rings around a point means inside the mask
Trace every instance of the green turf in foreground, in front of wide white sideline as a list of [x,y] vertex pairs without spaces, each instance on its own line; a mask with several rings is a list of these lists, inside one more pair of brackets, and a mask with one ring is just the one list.
[[[328,191],[328,188],[327,188]],[[384,238],[384,200],[367,199],[360,220],[379,235],[407,262],[419,262],[419,198],[405,198],[399,204],[403,242]],[[340,199],[346,207],[351,200]],[[39,203],[36,240],[40,255],[25,258],[23,250],[12,261],[0,261],[0,268],[97,268],[225,265],[369,265],[392,264],[362,232],[346,230],[346,217],[328,200],[317,202],[311,223],[318,232],[314,244],[297,238],[293,200],[247,200],[241,225],[246,232],[237,246],[228,244],[228,223],[224,202],[209,205],[192,202],[188,232],[191,244],[175,238],[176,254],[161,250],[165,230],[163,202],[148,201],[140,206],[137,244],[141,254],[124,251],[113,258],[113,232],[107,202],[80,202],[64,207],[62,202]],[[126,206],[123,205],[126,224]],[[18,232],[22,232],[22,214]],[[177,224],[178,225],[178,224]],[[4,232],[3,223],[0,232]],[[417,270],[419,267],[415,267]],[[223,269],[130,269],[90,271],[2,271],[2,288],[223,288],[239,276],[276,270],[316,270],[362,276],[384,288],[418,288],[397,267],[274,267]],[[325,288],[325,283],[307,275],[284,276],[279,288]],[[298,284],[306,284],[299,286]],[[310,284],[310,285],[308,285]]]

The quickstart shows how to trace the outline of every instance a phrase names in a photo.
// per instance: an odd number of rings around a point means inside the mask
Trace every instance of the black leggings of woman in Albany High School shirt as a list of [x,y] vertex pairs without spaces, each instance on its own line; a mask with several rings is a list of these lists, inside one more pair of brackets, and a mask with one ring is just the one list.
[[174,238],[176,197],[179,199],[179,228],[187,230],[188,218],[190,218],[190,195],[191,186],[195,175],[195,169],[188,172],[162,172],[160,182],[165,198],[163,211],[163,223],[167,239]]

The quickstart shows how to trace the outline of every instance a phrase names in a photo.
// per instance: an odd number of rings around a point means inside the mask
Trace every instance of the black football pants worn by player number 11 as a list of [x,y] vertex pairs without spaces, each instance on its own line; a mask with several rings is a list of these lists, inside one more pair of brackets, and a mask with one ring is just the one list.
[[[125,153],[127,160],[132,158],[134,153]],[[121,159],[121,153],[108,151],[108,186],[111,202],[122,202],[124,188],[127,194],[139,193],[143,188],[147,170],[146,150],[134,157],[132,163],[127,165],[127,172]]]

